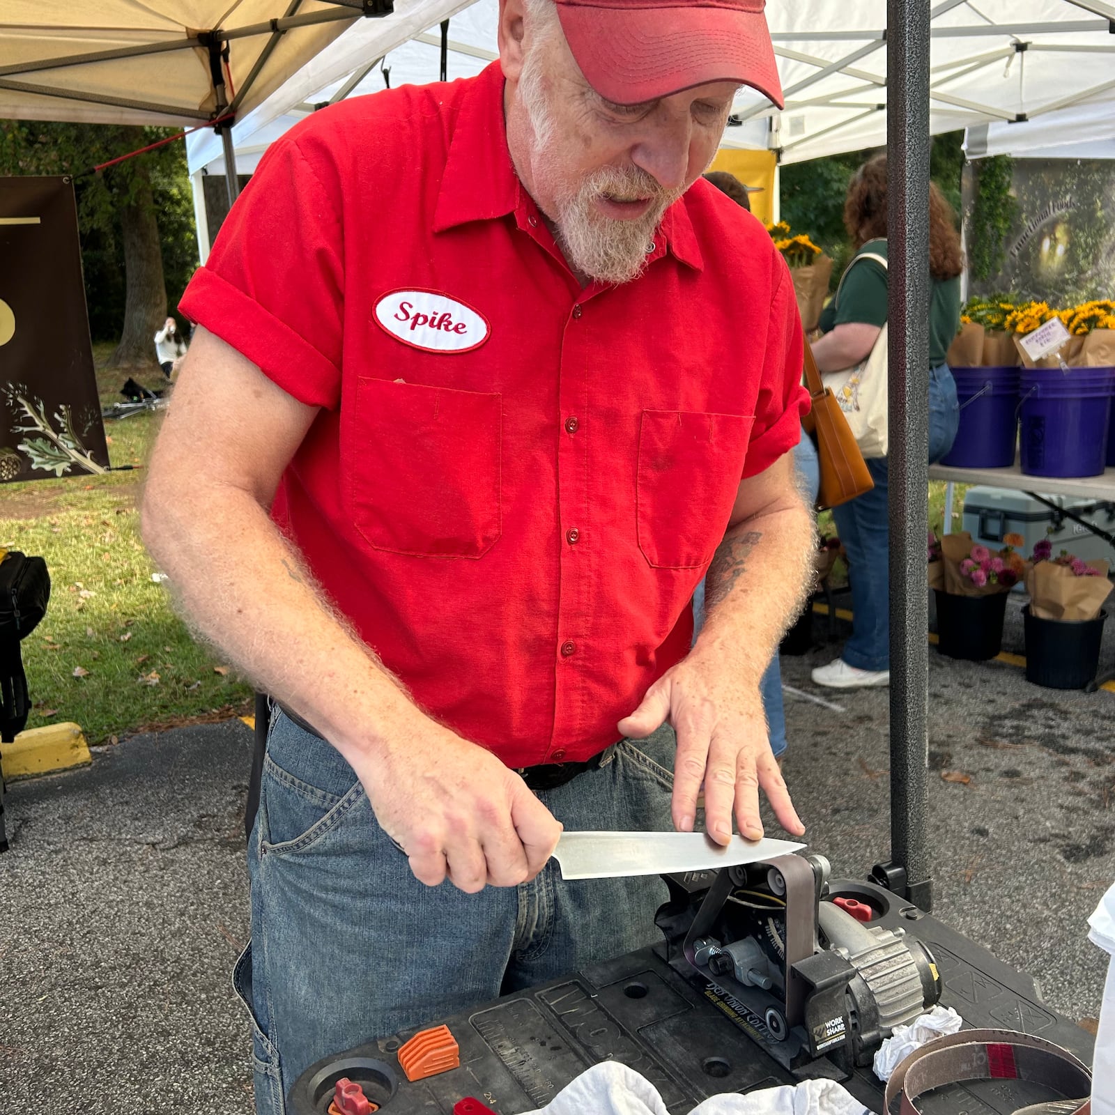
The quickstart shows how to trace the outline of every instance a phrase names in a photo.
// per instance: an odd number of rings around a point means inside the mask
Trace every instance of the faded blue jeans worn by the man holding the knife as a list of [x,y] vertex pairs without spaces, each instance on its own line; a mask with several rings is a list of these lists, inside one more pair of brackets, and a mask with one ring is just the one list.
[[[610,749],[539,794],[566,830],[672,830],[673,733]],[[248,850],[252,940],[233,982],[252,1016],[255,1109],[284,1115],[311,1064],[659,940],[657,875],[428,888],[329,744],[272,717]]]

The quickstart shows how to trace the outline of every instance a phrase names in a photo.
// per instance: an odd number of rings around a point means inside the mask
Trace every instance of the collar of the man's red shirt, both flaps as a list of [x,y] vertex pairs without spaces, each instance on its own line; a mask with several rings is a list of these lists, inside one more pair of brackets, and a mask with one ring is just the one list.
[[[537,212],[515,174],[507,149],[503,86],[503,70],[495,61],[481,71],[462,98],[434,212],[434,232],[469,221],[496,220],[520,209],[524,213]],[[695,271],[704,269],[685,196],[666,211],[658,236],[675,259]]]

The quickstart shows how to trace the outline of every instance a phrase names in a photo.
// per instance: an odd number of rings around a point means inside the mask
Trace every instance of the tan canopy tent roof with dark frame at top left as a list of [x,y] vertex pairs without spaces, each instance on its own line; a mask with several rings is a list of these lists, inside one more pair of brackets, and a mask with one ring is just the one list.
[[[464,0],[467,2],[467,0]],[[197,126],[250,114],[352,23],[450,0],[3,0],[0,118]],[[378,17],[365,19],[365,17]],[[223,145],[231,152],[229,128]],[[230,180],[235,194],[235,180]]]

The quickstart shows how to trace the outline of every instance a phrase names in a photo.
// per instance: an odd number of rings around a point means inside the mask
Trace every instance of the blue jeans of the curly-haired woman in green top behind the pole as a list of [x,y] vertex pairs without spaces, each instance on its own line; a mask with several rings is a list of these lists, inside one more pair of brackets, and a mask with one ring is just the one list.
[[[940,460],[952,448],[960,423],[957,385],[948,365],[929,376],[929,463]],[[852,638],[841,657],[861,670],[889,670],[890,642],[890,526],[888,522],[886,458],[869,460],[874,488],[840,507],[833,518],[847,551],[852,584]]]

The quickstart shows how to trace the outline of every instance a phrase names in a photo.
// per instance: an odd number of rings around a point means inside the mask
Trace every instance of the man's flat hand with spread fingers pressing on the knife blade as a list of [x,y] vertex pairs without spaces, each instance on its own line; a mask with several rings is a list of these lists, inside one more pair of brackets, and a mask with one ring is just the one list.
[[666,720],[678,737],[675,828],[692,831],[704,784],[706,828],[720,844],[731,838],[733,814],[741,835],[763,836],[760,786],[783,828],[795,836],[805,832],[770,750],[757,688],[744,694],[723,667],[714,669],[690,655],[647,690],[634,712],[620,720],[619,730],[644,739]]

